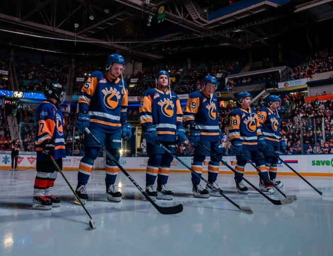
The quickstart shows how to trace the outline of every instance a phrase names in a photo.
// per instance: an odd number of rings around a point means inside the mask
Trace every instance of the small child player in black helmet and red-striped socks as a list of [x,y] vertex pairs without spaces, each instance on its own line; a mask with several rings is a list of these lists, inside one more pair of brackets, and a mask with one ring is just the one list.
[[50,159],[52,156],[60,169],[66,157],[64,116],[60,104],[64,103],[66,93],[61,84],[49,83],[44,89],[46,101],[36,109],[36,170],[33,189],[35,209],[50,210],[60,206],[60,199],[51,194],[58,169]]

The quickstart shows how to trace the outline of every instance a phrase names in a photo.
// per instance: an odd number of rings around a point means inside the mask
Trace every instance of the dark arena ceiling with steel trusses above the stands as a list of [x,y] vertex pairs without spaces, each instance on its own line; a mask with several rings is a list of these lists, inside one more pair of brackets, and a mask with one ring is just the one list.
[[[282,35],[333,17],[333,0],[279,1],[257,1],[209,20],[228,0],[2,0],[0,44],[72,54],[114,49],[158,59],[207,46],[277,47]],[[165,20],[157,24],[161,4]]]

